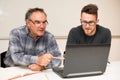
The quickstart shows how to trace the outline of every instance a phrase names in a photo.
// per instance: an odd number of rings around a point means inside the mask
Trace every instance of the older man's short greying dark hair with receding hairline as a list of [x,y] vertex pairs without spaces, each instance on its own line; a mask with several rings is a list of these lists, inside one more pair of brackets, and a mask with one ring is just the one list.
[[25,20],[30,19],[32,13],[33,13],[33,12],[37,12],[37,11],[42,12],[42,13],[45,14],[45,16],[47,16],[47,14],[45,13],[44,9],[42,9],[42,8],[30,8],[30,9],[27,11],[27,13],[25,14]]

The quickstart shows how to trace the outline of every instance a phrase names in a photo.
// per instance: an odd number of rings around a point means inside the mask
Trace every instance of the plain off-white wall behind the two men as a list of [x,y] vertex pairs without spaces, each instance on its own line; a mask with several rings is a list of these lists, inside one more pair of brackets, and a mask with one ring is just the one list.
[[[44,8],[49,21],[47,30],[56,37],[67,37],[69,30],[80,24],[81,8],[88,3],[98,5],[99,24],[112,32],[110,60],[120,60],[120,0],[0,0],[0,52],[7,50],[10,31],[25,24],[29,8]],[[63,52],[66,38],[57,42]]]

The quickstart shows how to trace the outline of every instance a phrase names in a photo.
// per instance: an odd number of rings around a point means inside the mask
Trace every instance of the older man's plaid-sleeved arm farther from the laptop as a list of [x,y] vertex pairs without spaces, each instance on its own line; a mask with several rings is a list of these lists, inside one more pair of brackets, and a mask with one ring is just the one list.
[[13,30],[10,33],[9,52],[14,64],[27,66],[31,63],[36,63],[37,56],[25,54],[25,47],[22,45],[25,45],[25,43],[21,40],[21,36],[23,35],[17,30]]

